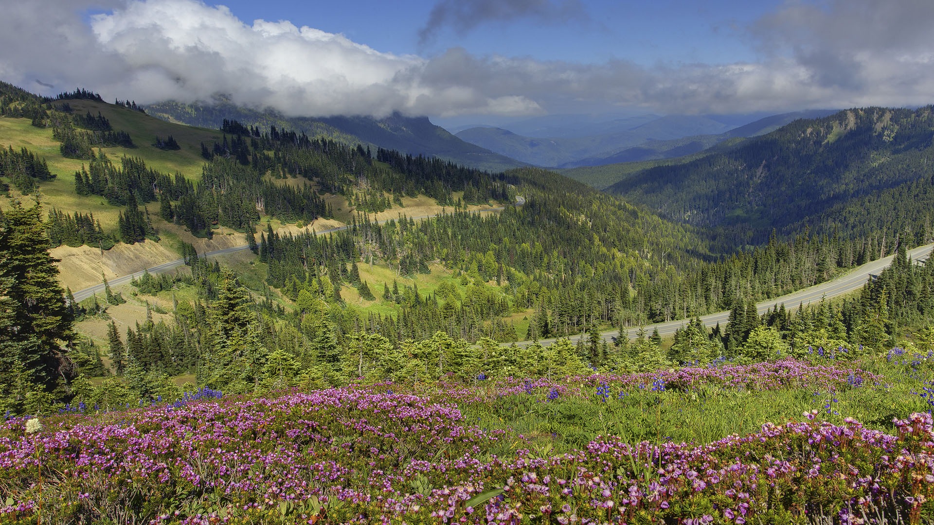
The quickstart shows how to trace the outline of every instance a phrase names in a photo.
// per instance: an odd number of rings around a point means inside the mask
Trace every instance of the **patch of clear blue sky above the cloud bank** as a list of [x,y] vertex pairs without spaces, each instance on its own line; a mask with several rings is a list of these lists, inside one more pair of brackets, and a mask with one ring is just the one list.
[[[432,55],[462,47],[480,55],[531,56],[598,64],[627,59],[637,64],[729,64],[752,60],[743,28],[780,6],[775,1],[659,0],[591,1],[573,7],[580,18],[542,20],[516,17],[478,21],[470,29],[446,24],[429,42],[419,32],[429,22],[429,0],[336,2],[209,2],[230,7],[241,20],[287,20],[348,38],[375,50]],[[558,4],[558,3],[555,3]]]

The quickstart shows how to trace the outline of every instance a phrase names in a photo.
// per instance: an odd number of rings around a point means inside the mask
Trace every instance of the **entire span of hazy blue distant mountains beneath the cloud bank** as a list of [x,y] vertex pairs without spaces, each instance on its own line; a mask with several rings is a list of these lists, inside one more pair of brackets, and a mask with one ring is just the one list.
[[[235,106],[222,96],[209,102],[167,101],[145,108],[150,115],[166,121],[207,128],[219,128],[224,119],[261,128],[276,126],[351,144],[359,142],[412,155],[436,156],[490,171],[525,165],[574,168],[672,159],[698,153],[731,138],[768,133],[796,119],[832,113],[830,110],[799,111],[764,118],[748,115],[546,115],[511,122],[512,130],[474,125],[452,135],[426,117],[405,117],[398,113],[382,119],[289,117],[274,109]],[[759,117],[756,121],[748,122],[756,117]]]

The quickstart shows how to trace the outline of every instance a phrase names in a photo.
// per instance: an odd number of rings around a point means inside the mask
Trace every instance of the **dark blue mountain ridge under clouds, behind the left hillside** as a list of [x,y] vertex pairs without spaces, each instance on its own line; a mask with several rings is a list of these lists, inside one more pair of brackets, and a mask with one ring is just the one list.
[[453,163],[490,171],[527,165],[488,149],[464,142],[426,117],[404,117],[398,113],[384,119],[372,117],[288,117],[272,109],[257,110],[235,106],[219,97],[210,103],[181,104],[162,102],[146,106],[146,111],[165,121],[219,129],[224,119],[246,126],[302,131],[325,135],[350,144],[361,143],[397,149],[412,155],[436,156]]

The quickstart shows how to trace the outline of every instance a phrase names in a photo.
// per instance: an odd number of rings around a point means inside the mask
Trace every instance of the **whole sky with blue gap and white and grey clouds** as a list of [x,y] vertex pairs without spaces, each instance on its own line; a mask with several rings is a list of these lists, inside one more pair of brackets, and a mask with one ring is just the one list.
[[0,79],[494,122],[934,103],[930,0],[0,0]]

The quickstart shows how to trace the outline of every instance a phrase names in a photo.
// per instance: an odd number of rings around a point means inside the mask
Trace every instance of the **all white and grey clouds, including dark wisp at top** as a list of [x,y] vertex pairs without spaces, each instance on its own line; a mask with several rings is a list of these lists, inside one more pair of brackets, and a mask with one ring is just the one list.
[[[580,106],[739,113],[934,102],[927,32],[934,3],[927,0],[789,2],[746,28],[756,62],[654,66],[475,56],[461,48],[398,55],[289,21],[247,23],[197,0],[90,2],[82,7],[103,10],[90,19],[75,4],[5,7],[0,46],[9,51],[0,57],[0,78],[39,92],[81,86],[144,104],[225,93],[236,104],[307,116],[531,115]],[[520,16],[545,21],[579,7],[544,0],[512,0],[492,11],[488,0],[458,5],[440,0],[422,36],[445,24],[469,31]]]

